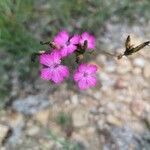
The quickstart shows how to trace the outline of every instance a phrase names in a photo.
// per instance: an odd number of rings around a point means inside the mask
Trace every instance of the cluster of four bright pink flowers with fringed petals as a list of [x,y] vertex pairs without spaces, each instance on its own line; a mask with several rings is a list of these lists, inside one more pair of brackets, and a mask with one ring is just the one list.
[[[41,54],[39,61],[42,65],[41,78],[56,84],[69,77],[69,68],[61,64],[62,59],[76,51],[83,54],[82,51],[95,49],[95,37],[87,32],[70,36],[67,31],[61,31],[54,37],[53,43],[55,48],[50,53]],[[73,79],[81,90],[94,87],[97,83],[96,71],[96,65],[81,63],[75,70]]]

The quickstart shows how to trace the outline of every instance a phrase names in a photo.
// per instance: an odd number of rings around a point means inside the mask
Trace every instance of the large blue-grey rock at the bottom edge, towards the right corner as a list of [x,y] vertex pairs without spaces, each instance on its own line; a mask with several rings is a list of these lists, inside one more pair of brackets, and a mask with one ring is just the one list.
[[[141,150],[143,141],[130,127],[111,127],[101,131],[103,138],[103,148],[106,150]],[[138,138],[138,140],[137,140]]]

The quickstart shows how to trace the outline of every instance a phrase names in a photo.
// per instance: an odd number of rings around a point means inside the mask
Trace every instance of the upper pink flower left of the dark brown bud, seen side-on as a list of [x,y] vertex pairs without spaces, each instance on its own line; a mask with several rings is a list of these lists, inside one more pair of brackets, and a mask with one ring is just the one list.
[[79,35],[70,37],[67,31],[61,31],[54,37],[54,43],[59,48],[61,57],[72,54],[77,49],[76,45],[79,43],[79,40]]

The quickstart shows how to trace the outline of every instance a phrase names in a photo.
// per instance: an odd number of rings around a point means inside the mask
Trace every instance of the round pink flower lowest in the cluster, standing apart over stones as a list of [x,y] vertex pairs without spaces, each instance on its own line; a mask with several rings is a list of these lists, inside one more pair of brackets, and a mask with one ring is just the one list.
[[96,85],[97,66],[92,64],[81,64],[74,73],[74,80],[81,90]]

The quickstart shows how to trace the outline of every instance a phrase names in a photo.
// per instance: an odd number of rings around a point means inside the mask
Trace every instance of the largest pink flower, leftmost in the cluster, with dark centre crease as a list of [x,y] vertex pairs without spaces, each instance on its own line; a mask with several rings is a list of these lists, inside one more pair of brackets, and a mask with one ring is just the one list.
[[61,60],[58,53],[42,54],[40,56],[40,63],[43,65],[41,78],[44,80],[51,80],[59,84],[69,76],[68,68],[60,64]]

